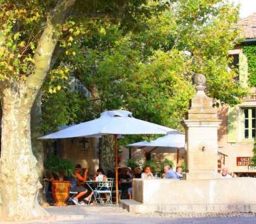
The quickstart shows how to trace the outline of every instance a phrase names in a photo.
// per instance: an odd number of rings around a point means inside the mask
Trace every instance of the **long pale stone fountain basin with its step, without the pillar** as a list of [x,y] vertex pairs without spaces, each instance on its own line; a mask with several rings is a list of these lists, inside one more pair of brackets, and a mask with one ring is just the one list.
[[256,212],[255,187],[256,179],[249,177],[185,181],[134,179],[133,200],[121,200],[121,206],[134,213]]

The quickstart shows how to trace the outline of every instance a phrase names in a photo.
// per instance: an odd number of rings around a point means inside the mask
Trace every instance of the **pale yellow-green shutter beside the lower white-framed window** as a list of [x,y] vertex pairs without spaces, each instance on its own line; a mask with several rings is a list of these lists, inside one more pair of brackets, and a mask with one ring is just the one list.
[[237,142],[237,109],[228,107],[228,142]]

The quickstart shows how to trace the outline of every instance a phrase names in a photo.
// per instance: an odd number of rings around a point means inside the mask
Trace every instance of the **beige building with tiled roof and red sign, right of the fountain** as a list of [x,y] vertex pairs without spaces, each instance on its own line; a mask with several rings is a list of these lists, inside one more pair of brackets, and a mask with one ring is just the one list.
[[[229,52],[230,57],[233,57],[229,69],[237,68],[239,82],[248,87],[250,64],[243,47],[248,44],[256,47],[256,13],[239,20],[235,28],[239,27],[243,30],[245,40]],[[251,96],[244,98],[243,103],[235,107],[224,105],[218,109],[218,119],[222,119],[222,124],[218,128],[218,145],[220,151],[228,155],[220,157],[219,171],[223,167],[228,167],[233,177],[256,177],[256,170],[248,169],[249,157],[254,155],[255,144],[255,90],[255,87],[250,88]]]

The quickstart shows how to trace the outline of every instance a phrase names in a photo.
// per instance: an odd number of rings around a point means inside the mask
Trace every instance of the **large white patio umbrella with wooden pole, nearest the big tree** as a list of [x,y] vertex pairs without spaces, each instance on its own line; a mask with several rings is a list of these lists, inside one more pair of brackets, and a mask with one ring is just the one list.
[[[130,116],[130,117],[129,117]],[[59,132],[38,138],[74,138],[93,137],[114,134],[116,151],[116,192],[118,192],[118,163],[117,163],[117,136],[118,134],[171,134],[179,132],[166,126],[155,125],[146,121],[135,119],[129,111],[105,111],[99,119],[74,125]],[[118,200],[117,203],[118,204]]]

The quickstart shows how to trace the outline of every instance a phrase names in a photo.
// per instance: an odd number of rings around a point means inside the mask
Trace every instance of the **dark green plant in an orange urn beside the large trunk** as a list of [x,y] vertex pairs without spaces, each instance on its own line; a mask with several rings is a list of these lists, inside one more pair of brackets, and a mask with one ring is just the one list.
[[52,181],[52,196],[56,200],[54,206],[67,206],[65,201],[69,196],[70,181],[64,181],[64,177],[70,177],[75,172],[75,163],[72,159],[54,156],[49,157],[44,166],[59,177],[59,181]]

